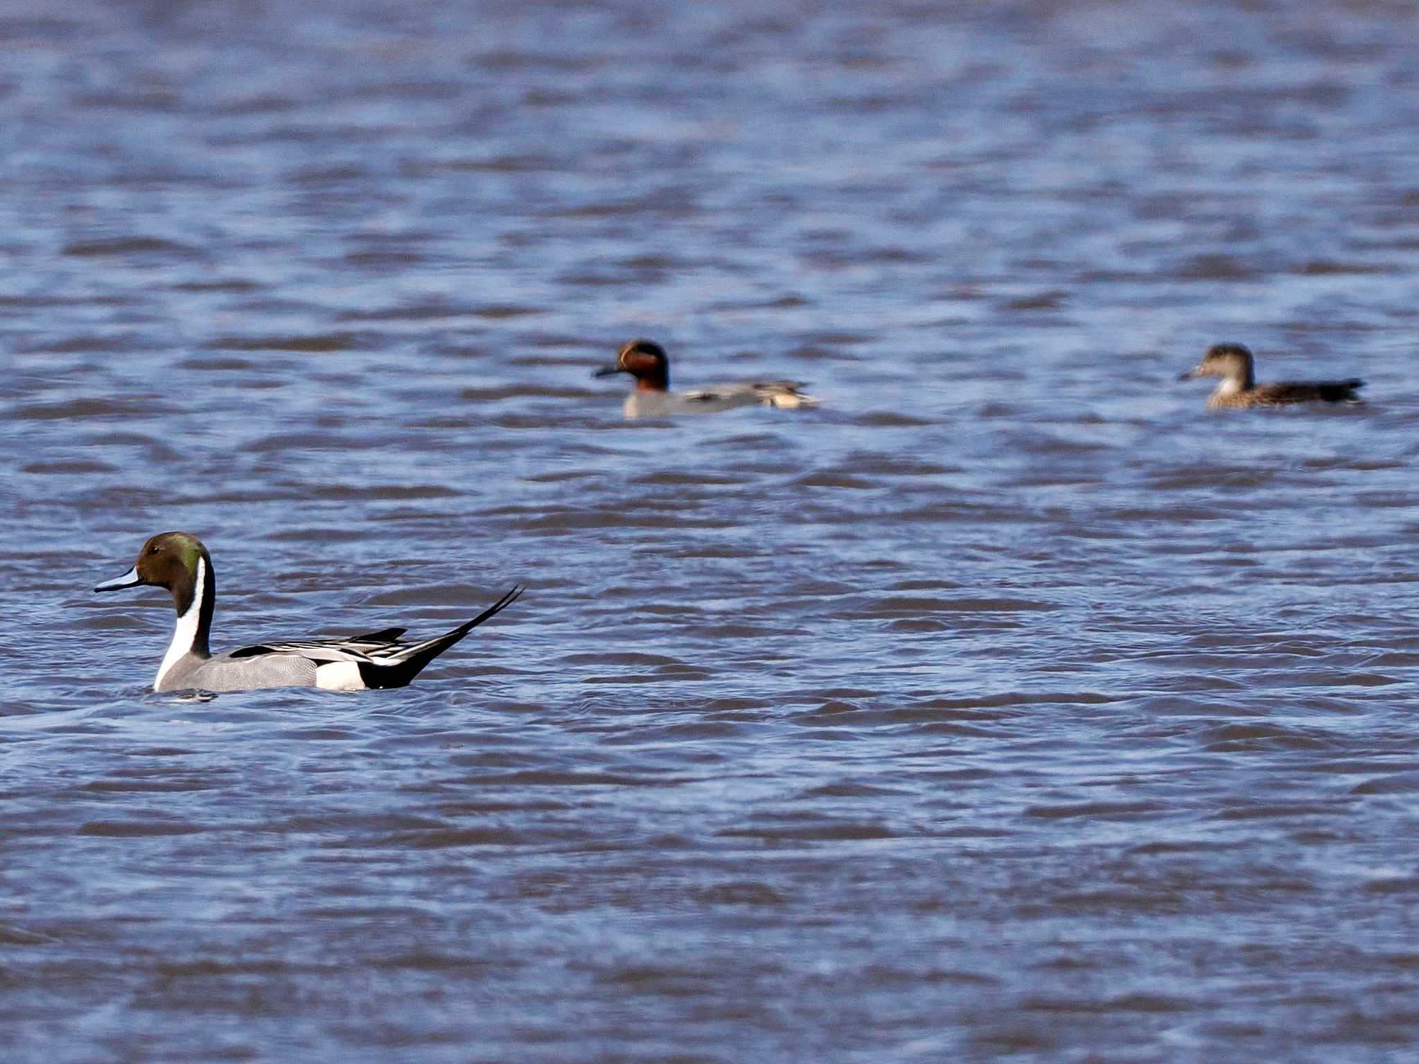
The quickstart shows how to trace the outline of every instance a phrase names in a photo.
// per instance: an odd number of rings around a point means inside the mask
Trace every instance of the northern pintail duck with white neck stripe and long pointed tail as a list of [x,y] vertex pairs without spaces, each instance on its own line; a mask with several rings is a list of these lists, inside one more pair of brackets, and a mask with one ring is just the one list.
[[163,587],[177,607],[177,628],[158,668],[153,691],[257,691],[267,687],[322,687],[363,691],[403,687],[420,670],[482,621],[522,594],[514,587],[471,621],[421,643],[400,643],[404,628],[380,628],[345,640],[258,643],[224,654],[207,650],[217,580],[211,556],[197,536],[163,532],[143,543],[138,562],[95,592]]

